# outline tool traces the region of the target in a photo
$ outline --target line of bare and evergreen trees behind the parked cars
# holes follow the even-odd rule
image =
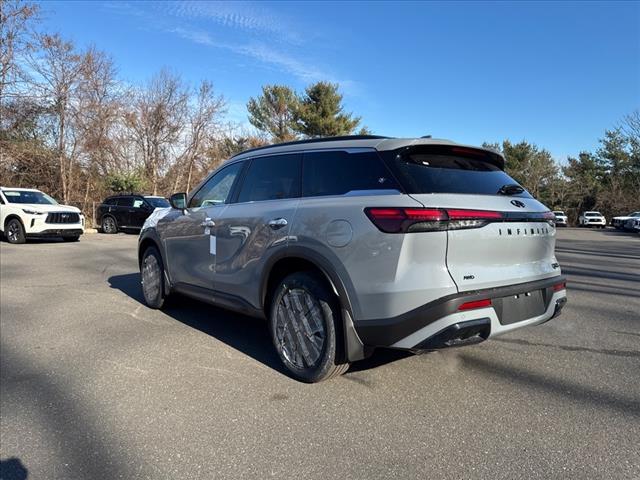
[[[247,148],[301,138],[370,134],[345,111],[339,85],[303,92],[266,85],[247,103],[252,129],[226,119],[211,81],[193,85],[160,70],[146,82],[118,77],[113,59],[38,30],[38,6],[0,0],[0,180],[40,188],[91,214],[122,191],[188,191]],[[485,144],[507,171],[551,208],[571,216],[640,210],[640,113],[606,130],[595,152],[555,161],[527,141]],[[572,215],[573,214],[573,215]]]

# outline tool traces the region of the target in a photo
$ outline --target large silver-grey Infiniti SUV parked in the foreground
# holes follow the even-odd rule
[[[181,293],[268,319],[282,364],[307,382],[377,347],[473,345],[538,325],[566,302],[553,213],[484,148],[283,143],[236,155],[171,204],[140,233],[147,305]]]

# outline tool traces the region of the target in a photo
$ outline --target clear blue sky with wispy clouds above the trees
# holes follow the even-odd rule
[[[338,82],[374,133],[526,139],[559,160],[640,107],[639,2],[43,2],[43,28],[122,79],[211,80],[228,117],[267,83]]]

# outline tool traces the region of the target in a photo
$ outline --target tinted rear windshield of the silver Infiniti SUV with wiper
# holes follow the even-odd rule
[[[385,152],[384,156],[407,193],[496,195],[506,186],[518,186],[499,167],[501,158],[484,150],[418,145]],[[509,193],[531,198],[524,189]]]

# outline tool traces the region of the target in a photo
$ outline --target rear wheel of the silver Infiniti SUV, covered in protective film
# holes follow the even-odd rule
[[[338,299],[314,272],[293,273],[276,288],[269,331],[280,361],[298,380],[316,383],[349,368],[349,363],[338,363],[342,358]]]

